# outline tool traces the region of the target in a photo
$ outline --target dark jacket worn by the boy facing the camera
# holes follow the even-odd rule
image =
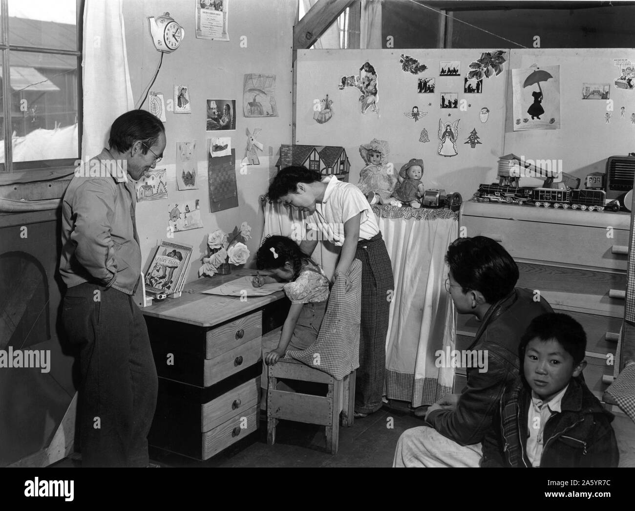
[[[483,440],[481,467],[531,467],[527,415],[531,388],[519,377],[500,401],[495,423]],[[620,454],[606,411],[584,380],[572,378],[561,412],[545,423],[540,467],[617,467]]]

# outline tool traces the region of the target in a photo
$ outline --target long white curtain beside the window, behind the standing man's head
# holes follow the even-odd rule
[[[135,107],[122,0],[86,0],[83,56],[82,158],[86,159],[107,147],[112,121]]]

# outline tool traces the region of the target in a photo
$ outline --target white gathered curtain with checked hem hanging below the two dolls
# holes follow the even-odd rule
[[[436,351],[455,346],[454,304],[445,291],[448,245],[456,218],[379,218],[395,292],[386,340],[385,394],[412,406],[452,392],[455,370],[438,368]]]

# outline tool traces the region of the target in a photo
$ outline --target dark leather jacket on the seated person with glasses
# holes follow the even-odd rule
[[[516,288],[492,305],[483,317],[469,350],[486,350],[488,370],[467,368],[467,387],[457,406],[432,411],[427,421],[462,446],[478,444],[492,426],[505,386],[518,376],[518,345],[531,320],[553,312],[547,300],[533,300],[530,289]]]

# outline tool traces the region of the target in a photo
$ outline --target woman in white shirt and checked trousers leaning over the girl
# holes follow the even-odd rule
[[[335,176],[321,180],[305,167],[279,171],[269,185],[269,199],[281,200],[309,213],[307,236],[300,243],[312,254],[319,239],[340,246],[336,272],[347,274],[354,258],[362,263],[359,369],[355,391],[355,416],[363,417],[382,408],[385,343],[388,333],[390,296],[394,289],[392,265],[379,231],[375,213],[364,194],[352,183]],[[351,288],[349,277],[344,277]]]

